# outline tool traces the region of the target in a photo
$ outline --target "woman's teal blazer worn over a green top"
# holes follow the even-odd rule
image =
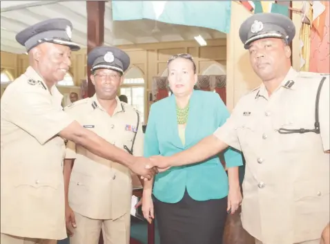
[[[229,111],[217,93],[193,91],[189,101],[185,145],[177,130],[175,97],[171,95],[151,106],[146,133],[144,156],[171,156],[200,142],[222,126],[229,118]],[[226,167],[242,165],[240,152],[229,148],[224,152]],[[153,194],[164,203],[177,203],[187,189],[195,200],[220,199],[228,195],[226,171],[218,156],[193,165],[172,167],[155,176]]]

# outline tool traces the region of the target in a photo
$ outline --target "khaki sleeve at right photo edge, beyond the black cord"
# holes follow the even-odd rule
[[[324,151],[330,150],[330,99],[329,99],[329,75],[327,79],[324,80],[322,90],[320,93],[320,103],[319,103],[319,119],[320,119],[320,135],[322,139]]]

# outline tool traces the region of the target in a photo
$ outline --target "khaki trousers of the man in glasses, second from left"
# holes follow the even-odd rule
[[[129,244],[130,213],[115,220],[87,218],[75,212],[77,227],[70,236],[70,244],[98,244],[102,230],[104,244]]]

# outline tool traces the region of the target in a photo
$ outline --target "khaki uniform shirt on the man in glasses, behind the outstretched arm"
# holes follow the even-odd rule
[[[70,104],[65,111],[86,129],[97,133],[123,150],[131,149],[137,129],[137,111],[120,102],[113,116],[99,104],[96,95]],[[141,122],[142,118],[139,118]],[[133,154],[143,156],[142,124],[139,123]],[[75,158],[68,200],[73,211],[94,219],[116,219],[130,211],[132,180],[130,170],[68,142],[66,158]]]

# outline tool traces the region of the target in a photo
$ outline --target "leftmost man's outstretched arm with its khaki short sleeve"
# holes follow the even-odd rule
[[[153,169],[145,169],[146,158],[136,158],[130,153],[115,147],[93,131],[89,131],[59,108],[55,108],[49,95],[38,88],[19,90],[12,94],[12,100],[5,104],[6,117],[27,133],[34,136],[40,144],[59,135],[61,138],[80,144],[88,151],[125,165],[140,176],[151,179]],[[11,102],[12,101],[12,102]],[[16,111],[21,111],[17,113]]]

